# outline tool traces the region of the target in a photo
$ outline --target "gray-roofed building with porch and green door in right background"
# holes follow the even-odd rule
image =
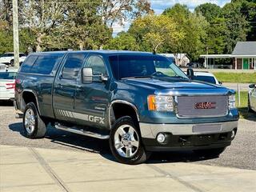
[[[216,68],[214,59],[230,58],[234,70],[256,70],[256,42],[237,42],[232,54],[202,54],[200,58],[205,58],[206,68]]]

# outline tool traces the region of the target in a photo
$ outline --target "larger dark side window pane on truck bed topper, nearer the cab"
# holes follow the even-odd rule
[[[58,57],[38,56],[30,70],[30,73],[50,74],[56,62],[58,62]]]

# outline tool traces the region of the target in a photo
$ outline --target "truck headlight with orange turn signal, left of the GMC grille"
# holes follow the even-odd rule
[[[173,111],[173,97],[163,95],[149,95],[147,98],[149,110]]]

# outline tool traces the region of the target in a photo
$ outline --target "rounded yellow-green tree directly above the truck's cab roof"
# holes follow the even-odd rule
[[[121,32],[117,37],[112,38],[104,47],[108,50],[140,50],[136,38],[132,34]]]

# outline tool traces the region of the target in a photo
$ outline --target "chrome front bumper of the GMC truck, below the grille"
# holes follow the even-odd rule
[[[173,135],[226,133],[238,128],[238,121],[198,124],[151,124],[140,122],[139,126],[142,138],[156,138],[158,133]]]

